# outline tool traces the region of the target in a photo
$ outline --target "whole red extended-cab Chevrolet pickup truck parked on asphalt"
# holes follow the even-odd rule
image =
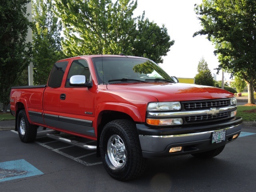
[[[178,83],[152,60],[134,56],[60,60],[47,85],[12,87],[10,104],[22,142],[34,141],[39,126],[50,128],[51,138],[96,150],[118,180],[140,176],[147,158],[212,158],[242,128],[234,94]],[[64,139],[60,132],[97,145]]]

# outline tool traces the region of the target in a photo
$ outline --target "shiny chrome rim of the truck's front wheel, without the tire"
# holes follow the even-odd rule
[[[108,158],[116,168],[121,168],[126,162],[124,142],[118,135],[112,135],[108,139]]]

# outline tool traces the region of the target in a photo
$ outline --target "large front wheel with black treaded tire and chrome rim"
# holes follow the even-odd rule
[[[108,174],[121,181],[140,176],[146,168],[134,122],[114,120],[100,135],[100,154]]]

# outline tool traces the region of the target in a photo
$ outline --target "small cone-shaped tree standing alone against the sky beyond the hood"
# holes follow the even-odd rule
[[[215,85],[212,73],[208,68],[207,62],[204,60],[204,57],[202,57],[198,62],[197,71],[198,74],[195,76],[195,84],[212,87]]]

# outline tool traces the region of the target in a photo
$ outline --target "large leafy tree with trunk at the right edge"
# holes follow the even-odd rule
[[[256,74],[256,2],[253,0],[203,0],[196,5],[202,30],[196,35],[207,35],[224,69],[231,76],[241,73],[248,82],[248,103],[254,104],[253,83]]]

